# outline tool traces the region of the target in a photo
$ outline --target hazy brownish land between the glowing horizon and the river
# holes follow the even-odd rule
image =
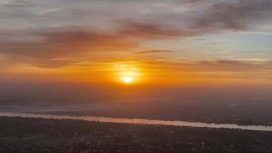
[[[0,111],[271,125],[272,89],[244,87],[8,83]]]

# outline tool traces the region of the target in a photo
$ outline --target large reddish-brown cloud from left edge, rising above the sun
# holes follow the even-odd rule
[[[35,33],[27,42],[0,42],[0,52],[29,57],[54,58],[74,56],[82,52],[124,51],[138,48],[142,41],[197,35],[198,31],[172,29],[149,23],[123,22],[114,32],[93,29],[52,30]],[[40,41],[36,41],[40,40]]]

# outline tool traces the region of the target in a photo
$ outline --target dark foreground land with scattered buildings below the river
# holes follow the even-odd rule
[[[272,132],[0,117],[0,152],[272,152]]]

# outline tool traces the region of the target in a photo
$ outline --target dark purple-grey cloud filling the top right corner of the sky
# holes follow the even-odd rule
[[[269,0],[217,2],[193,21],[193,27],[246,30],[253,21],[267,22],[271,13],[272,1]]]

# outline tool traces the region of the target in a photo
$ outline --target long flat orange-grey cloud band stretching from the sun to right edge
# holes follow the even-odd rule
[[[272,60],[180,61],[176,59],[147,59],[145,63],[149,68],[159,68],[159,70],[170,70],[172,72],[272,72]]]

